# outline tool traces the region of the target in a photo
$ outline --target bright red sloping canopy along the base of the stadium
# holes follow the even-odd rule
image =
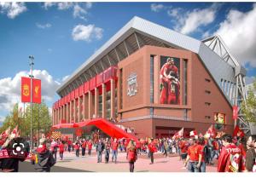
[[[97,128],[101,129],[107,135],[121,139],[121,138],[129,138],[134,141],[137,141],[137,137],[131,134],[128,134],[123,129],[120,129],[115,124],[108,122],[104,118],[93,118],[90,120],[86,120],[80,123],[60,123],[54,125],[53,128],[61,129],[61,128],[80,128],[84,126],[95,125]]]

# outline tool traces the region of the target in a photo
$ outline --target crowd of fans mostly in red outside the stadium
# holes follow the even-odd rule
[[[98,138],[84,139],[46,139],[44,135],[39,140],[39,146],[32,153],[32,164],[35,170],[49,172],[56,163],[57,153],[62,160],[65,152],[75,152],[76,157],[91,156],[96,151],[96,162],[108,164],[111,160],[118,163],[118,152],[126,152],[126,160],[131,172],[139,155],[148,155],[148,164],[154,164],[154,153],[168,158],[176,154],[183,165],[190,172],[206,172],[207,165],[217,165],[218,172],[255,172],[256,171],[256,135],[235,137],[223,135],[220,138],[210,136],[190,136],[189,138],[161,138],[161,139],[117,139]],[[103,158],[102,158],[103,157]],[[111,159],[110,159],[111,158]],[[24,161],[24,160],[22,160]],[[5,169],[3,159],[0,159],[1,169]],[[14,170],[14,169],[12,169]],[[18,171],[18,169],[15,169]]]

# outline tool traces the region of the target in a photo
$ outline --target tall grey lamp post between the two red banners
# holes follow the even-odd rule
[[[29,75],[30,77],[30,86],[31,86],[31,89],[30,89],[30,107],[31,107],[31,113],[30,113],[30,152],[32,152],[32,148],[33,148],[33,143],[32,143],[32,78],[33,78],[33,74],[32,74],[32,70],[33,70],[33,60],[34,60],[34,56],[30,55],[28,57],[30,59],[30,70],[31,70],[31,74]]]

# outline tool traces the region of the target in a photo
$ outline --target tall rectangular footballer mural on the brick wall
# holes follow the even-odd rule
[[[180,60],[160,57],[160,104],[180,104]]]

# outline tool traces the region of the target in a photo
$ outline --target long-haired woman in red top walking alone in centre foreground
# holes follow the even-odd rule
[[[130,172],[134,171],[134,163],[137,160],[137,148],[135,146],[134,141],[130,141],[128,146],[126,147],[126,159],[129,162],[129,170]]]

